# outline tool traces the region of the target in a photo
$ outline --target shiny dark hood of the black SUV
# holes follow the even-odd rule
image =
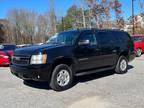
[[[43,44],[43,45],[32,45],[28,47],[18,48],[14,51],[14,55],[26,55],[30,56],[32,54],[37,54],[41,52],[43,49],[48,50],[51,48],[61,47],[64,45],[59,44]]]

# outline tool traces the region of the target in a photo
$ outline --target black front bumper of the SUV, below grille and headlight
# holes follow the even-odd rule
[[[51,65],[10,66],[11,73],[23,80],[50,81]]]

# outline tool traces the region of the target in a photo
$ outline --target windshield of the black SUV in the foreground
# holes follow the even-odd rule
[[[71,31],[71,32],[62,32],[52,36],[47,44],[64,44],[64,45],[72,45],[74,44],[79,32]]]

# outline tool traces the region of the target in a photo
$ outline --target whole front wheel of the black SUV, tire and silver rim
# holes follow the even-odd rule
[[[50,87],[55,91],[64,91],[72,86],[73,74],[69,66],[60,64],[52,73]]]

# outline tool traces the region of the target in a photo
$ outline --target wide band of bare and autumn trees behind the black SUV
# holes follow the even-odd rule
[[[73,0],[65,16],[56,15],[54,0],[49,0],[48,11],[38,14],[32,10],[11,9],[7,13],[7,24],[0,27],[0,42],[27,44],[45,42],[56,32],[77,28],[124,29],[119,0]],[[141,13],[143,1],[139,0]],[[131,31],[130,31],[131,32]]]

